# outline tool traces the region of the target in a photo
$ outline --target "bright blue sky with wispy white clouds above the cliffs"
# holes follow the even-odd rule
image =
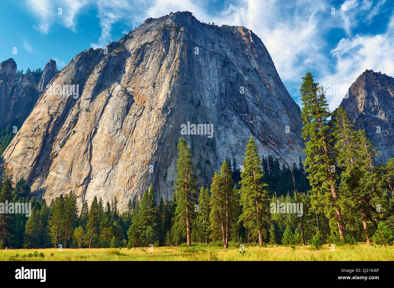
[[[394,76],[394,0],[2,0],[0,60],[14,58],[26,71],[55,59],[61,69],[149,17],[185,10],[256,33],[299,105],[307,71],[327,89],[331,109],[365,69]]]

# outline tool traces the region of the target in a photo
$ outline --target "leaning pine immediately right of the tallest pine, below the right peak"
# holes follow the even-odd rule
[[[367,222],[379,222],[379,213],[373,203],[388,204],[382,174],[376,171],[373,158],[376,148],[368,140],[364,130],[356,131],[349,115],[342,107],[334,113],[333,134],[336,137],[335,154],[341,170],[339,186],[346,201],[343,206],[346,223],[362,220],[366,242],[370,243],[370,229]]]

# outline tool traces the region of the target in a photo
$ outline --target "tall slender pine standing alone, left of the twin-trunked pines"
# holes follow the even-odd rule
[[[191,149],[187,147],[186,140],[180,138],[178,143],[177,181],[175,182],[175,193],[177,197],[177,208],[175,221],[178,231],[186,234],[188,246],[191,246],[191,221],[195,204],[195,188],[197,186],[194,167],[191,162]]]

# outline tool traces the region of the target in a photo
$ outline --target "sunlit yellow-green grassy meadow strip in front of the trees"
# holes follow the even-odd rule
[[[9,249],[0,250],[1,261],[337,261],[394,260],[394,247],[375,247],[365,243],[336,247],[329,245],[314,251],[310,246],[291,247],[248,247],[245,253],[238,247],[148,247],[132,249]],[[37,253],[35,253],[37,251]],[[30,254],[31,253],[31,254]],[[43,253],[44,257],[36,256]],[[30,257],[27,255],[30,254]],[[52,254],[52,255],[51,255]],[[17,255],[17,256],[16,256]],[[23,256],[26,255],[26,256]]]

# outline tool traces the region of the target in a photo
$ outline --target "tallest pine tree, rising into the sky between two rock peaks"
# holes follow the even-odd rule
[[[307,142],[304,153],[307,156],[305,165],[308,167],[308,178],[314,193],[314,205],[322,204],[325,214],[338,225],[338,232],[345,238],[342,213],[338,204],[339,196],[335,171],[336,160],[333,152],[334,139],[330,136],[329,117],[331,116],[325,100],[324,92],[318,83],[313,81],[309,72],[303,77],[300,89],[303,108],[302,137]]]

